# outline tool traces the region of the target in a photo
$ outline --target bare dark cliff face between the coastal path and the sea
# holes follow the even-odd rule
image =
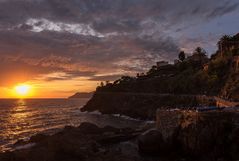
[[[186,108],[209,104],[214,105],[215,102],[199,96],[97,92],[82,108],[82,111],[98,110],[103,114],[122,114],[133,118],[155,119],[158,108]]]

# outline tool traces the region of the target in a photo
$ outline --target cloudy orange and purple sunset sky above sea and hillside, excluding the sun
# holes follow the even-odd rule
[[[211,55],[238,19],[238,0],[0,0],[0,98],[22,83],[68,97],[180,50]]]

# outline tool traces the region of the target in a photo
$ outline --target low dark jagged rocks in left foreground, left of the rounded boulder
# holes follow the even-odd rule
[[[0,161],[138,161],[137,144],[131,142],[128,144],[133,145],[127,146],[127,142],[139,134],[128,128],[99,128],[82,123],[78,128],[68,126],[52,136],[39,134],[28,142],[19,142],[16,146],[23,148],[0,154]],[[25,149],[24,144],[31,147]],[[130,149],[134,151],[132,155],[127,153]]]

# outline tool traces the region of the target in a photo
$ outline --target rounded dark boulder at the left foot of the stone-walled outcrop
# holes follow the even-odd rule
[[[138,138],[139,152],[146,155],[160,155],[165,151],[165,142],[160,131],[151,129]]]

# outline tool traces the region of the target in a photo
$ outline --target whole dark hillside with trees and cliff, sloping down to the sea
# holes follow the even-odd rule
[[[152,119],[157,108],[215,106],[210,96],[239,101],[239,45],[231,43],[238,41],[239,34],[224,36],[211,58],[198,47],[187,58],[180,52],[174,64],[158,62],[146,73],[101,83],[82,110]]]

